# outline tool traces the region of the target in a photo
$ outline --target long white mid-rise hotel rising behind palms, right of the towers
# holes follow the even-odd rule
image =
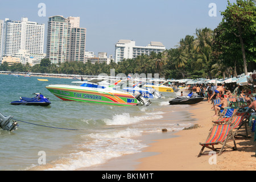
[[[150,55],[152,51],[163,52],[165,49],[166,47],[160,42],[150,42],[147,46],[135,46],[133,40],[119,40],[115,44],[115,63],[123,59],[133,59],[142,54]]]

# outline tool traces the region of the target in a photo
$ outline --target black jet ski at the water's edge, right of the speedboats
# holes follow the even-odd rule
[[[197,104],[204,100],[203,95],[198,95],[196,93],[190,92],[188,96],[177,96],[174,99],[170,100],[170,105],[177,104]]]

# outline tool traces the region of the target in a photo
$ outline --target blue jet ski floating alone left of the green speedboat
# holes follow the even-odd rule
[[[32,98],[28,97],[20,97],[20,100],[10,102],[12,105],[36,105],[36,106],[48,106],[51,104],[51,102],[48,100],[48,98],[44,97],[40,93],[33,93],[36,96]]]

